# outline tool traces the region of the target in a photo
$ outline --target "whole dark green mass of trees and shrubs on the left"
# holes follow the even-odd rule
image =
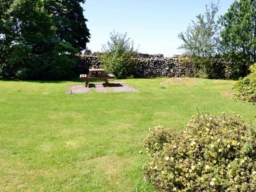
[[[89,37],[79,2],[83,1],[1,2],[0,76],[41,80],[72,77],[74,54],[84,48]],[[87,38],[78,40],[80,33]]]

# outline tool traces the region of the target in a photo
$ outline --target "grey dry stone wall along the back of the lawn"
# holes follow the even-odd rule
[[[77,74],[88,74],[90,68],[100,68],[102,53],[77,56]],[[200,68],[188,63],[186,56],[164,57],[162,54],[138,53],[132,58],[136,63],[139,77],[199,77]],[[232,63],[219,56],[212,58],[212,68],[208,78],[234,78]],[[238,76],[239,77],[239,76]]]

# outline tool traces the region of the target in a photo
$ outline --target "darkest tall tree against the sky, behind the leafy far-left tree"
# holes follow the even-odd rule
[[[81,3],[85,0],[44,0],[44,7],[53,15],[56,34],[79,51],[86,49],[90,33],[86,26]]]

